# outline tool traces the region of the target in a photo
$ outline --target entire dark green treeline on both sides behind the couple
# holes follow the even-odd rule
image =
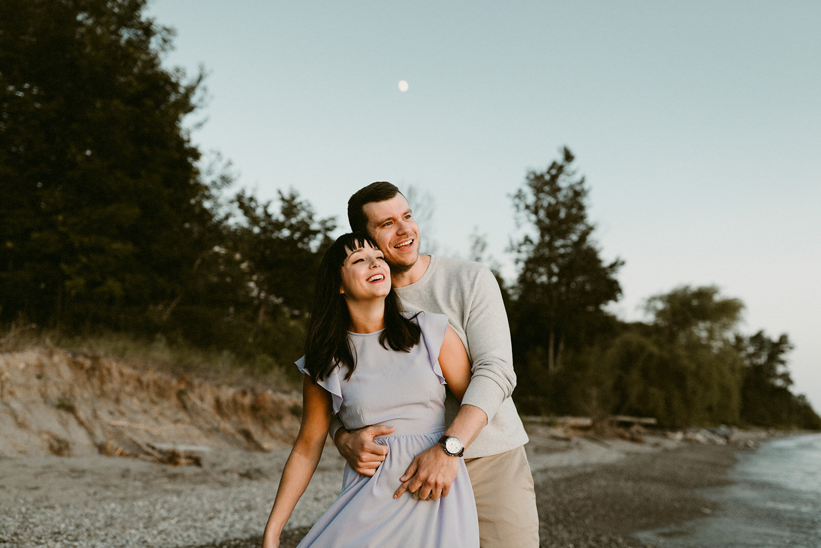
[[[183,121],[203,77],[162,66],[172,32],[144,3],[0,3],[0,320],[287,364],[336,221],[200,168]],[[742,303],[717,288],[651,297],[646,323],[606,311],[623,262],[602,260],[573,162],[562,150],[513,196],[520,274],[500,282],[521,410],[821,429],[790,391],[787,335],[738,334]]]

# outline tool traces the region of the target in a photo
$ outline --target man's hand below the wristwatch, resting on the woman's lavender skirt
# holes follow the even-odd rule
[[[402,485],[393,494],[398,499],[405,491],[410,491],[417,500],[439,500],[451,491],[451,484],[459,472],[459,458],[445,454],[439,444],[416,455],[413,462],[400,477]]]

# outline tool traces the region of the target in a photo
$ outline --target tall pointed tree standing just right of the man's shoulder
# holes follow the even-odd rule
[[[561,368],[566,345],[592,335],[606,315],[603,306],[621,295],[616,274],[623,261],[605,263],[599,256],[585,177],[576,175],[573,160],[564,148],[561,159],[543,173],[528,173],[512,196],[518,225],[529,228],[511,244],[521,267],[511,318],[514,348],[520,361],[548,375]]]

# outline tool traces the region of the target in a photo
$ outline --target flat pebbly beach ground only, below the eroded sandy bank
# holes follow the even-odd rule
[[[528,431],[541,546],[651,546],[631,532],[712,512],[694,489],[726,483],[736,461],[733,445],[665,435],[636,443]],[[0,545],[259,546],[288,450],[213,450],[201,467],[101,455],[2,458]],[[283,548],[296,546],[336,497],[342,466],[328,446]]]

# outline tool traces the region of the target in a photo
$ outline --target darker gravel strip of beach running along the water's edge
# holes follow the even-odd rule
[[[589,446],[577,448],[585,453]],[[634,448],[635,449],[635,448]],[[534,472],[540,548],[648,548],[633,533],[699,518],[716,504],[695,490],[731,483],[733,445],[684,444],[629,451],[612,463],[545,467]],[[616,450],[618,452],[618,449]],[[310,527],[289,529],[280,548],[294,548]],[[258,548],[262,536],[186,548]]]

